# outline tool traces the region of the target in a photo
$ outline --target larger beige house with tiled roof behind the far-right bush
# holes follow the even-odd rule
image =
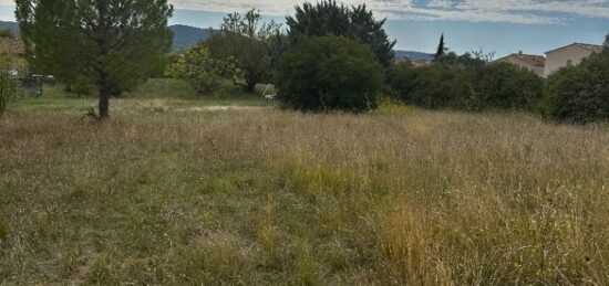
[[[593,53],[602,51],[602,45],[572,43],[546,52],[546,68],[544,76],[550,76],[565,66],[578,65]]]

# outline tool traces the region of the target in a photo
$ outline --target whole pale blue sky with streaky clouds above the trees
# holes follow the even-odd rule
[[[317,0],[311,0],[316,2]],[[169,0],[172,24],[217,27],[224,14],[258,8],[266,20],[285,21],[300,0]],[[434,52],[440,35],[458,53],[483,50],[496,57],[523,51],[543,54],[574,42],[602,43],[609,33],[609,0],[342,0],[365,4],[398,41],[396,49]],[[0,19],[14,20],[11,0]]]

